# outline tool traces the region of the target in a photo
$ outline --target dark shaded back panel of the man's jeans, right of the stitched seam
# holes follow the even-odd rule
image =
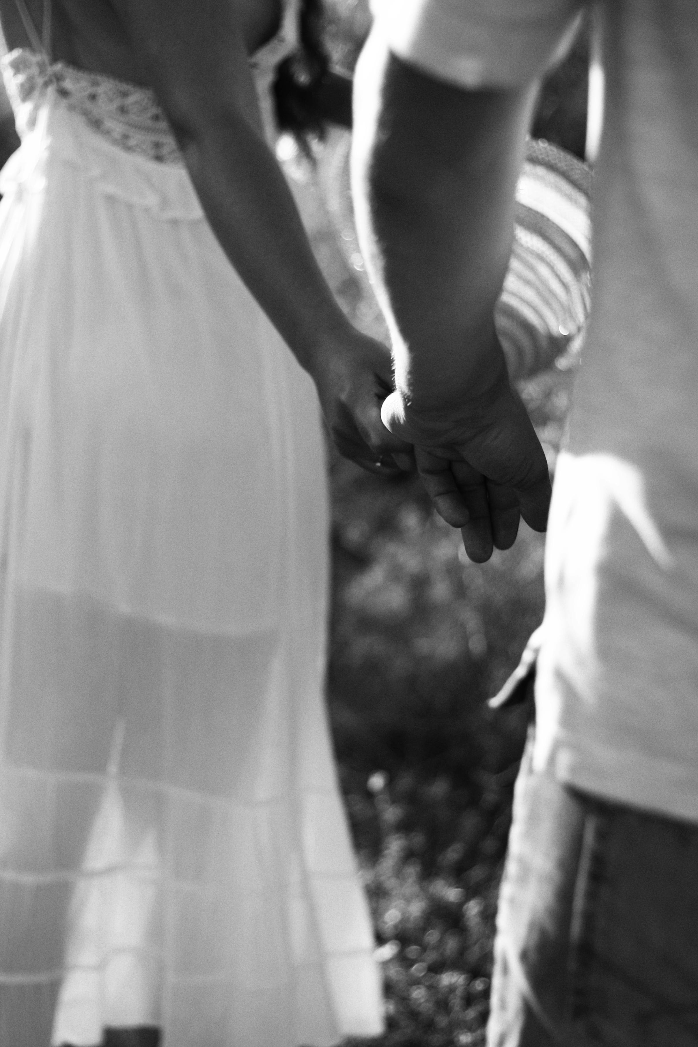
[[[698,827],[591,801],[570,927],[584,1042],[698,1045]]]

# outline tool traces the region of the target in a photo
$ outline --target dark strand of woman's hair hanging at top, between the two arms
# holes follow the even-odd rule
[[[323,43],[322,0],[301,0],[299,47],[278,67],[274,82],[276,120],[282,131],[293,134],[305,151],[308,136],[322,137],[320,91],[330,71]]]

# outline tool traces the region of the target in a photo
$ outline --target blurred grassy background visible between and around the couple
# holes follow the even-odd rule
[[[325,4],[333,59],[351,71],[366,4]],[[578,155],[586,69],[582,35],[545,84],[533,129]],[[371,304],[354,293],[352,311],[378,332]],[[520,384],[551,466],[572,377],[553,367]],[[541,620],[543,537],[522,525],[514,549],[475,565],[418,482],[379,480],[336,455],[331,476],[330,712],[386,992],[387,1033],[371,1044],[475,1047],[485,1042],[496,895],[527,719],[525,709],[495,714],[483,703]]]

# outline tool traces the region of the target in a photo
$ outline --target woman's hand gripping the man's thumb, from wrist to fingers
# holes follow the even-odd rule
[[[318,353],[309,369],[330,435],[340,454],[383,475],[414,468],[412,446],[381,421],[392,391],[390,353],[379,341],[351,331]]]

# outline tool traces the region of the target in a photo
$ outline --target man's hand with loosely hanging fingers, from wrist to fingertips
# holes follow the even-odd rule
[[[547,462],[502,366],[474,397],[444,395],[435,407],[391,393],[382,418],[415,445],[416,468],[434,507],[460,528],[471,560],[514,544],[519,517],[544,531],[550,502]]]

